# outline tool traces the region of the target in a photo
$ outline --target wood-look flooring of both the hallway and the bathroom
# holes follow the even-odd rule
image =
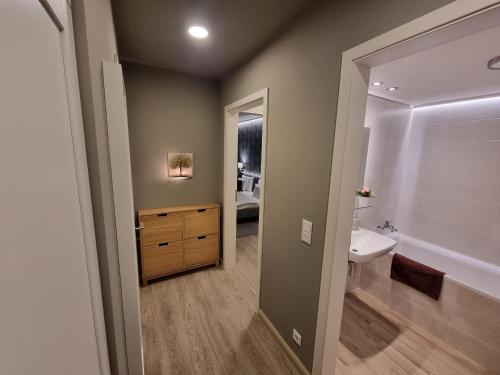
[[[141,288],[146,375],[299,375],[256,314],[257,236],[237,240],[237,266]],[[337,375],[487,372],[363,292],[346,296]]]

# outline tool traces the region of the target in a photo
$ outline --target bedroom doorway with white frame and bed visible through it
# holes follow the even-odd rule
[[[240,267],[260,300],[268,89],[225,107],[223,265]]]

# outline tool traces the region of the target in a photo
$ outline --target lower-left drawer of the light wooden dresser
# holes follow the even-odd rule
[[[180,270],[184,267],[184,250],[181,242],[147,246],[142,249],[144,277]]]

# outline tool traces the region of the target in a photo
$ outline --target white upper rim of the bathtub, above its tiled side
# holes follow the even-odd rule
[[[393,252],[445,272],[445,278],[500,301],[500,267],[402,233]]]

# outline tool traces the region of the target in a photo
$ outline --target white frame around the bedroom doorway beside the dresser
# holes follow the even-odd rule
[[[236,190],[238,163],[238,113],[262,105],[262,151],[260,167],[259,233],[257,243],[257,307],[260,305],[260,276],[264,208],[266,194],[267,120],[269,88],[264,88],[224,107],[224,195],[223,195],[223,265],[236,265]]]

